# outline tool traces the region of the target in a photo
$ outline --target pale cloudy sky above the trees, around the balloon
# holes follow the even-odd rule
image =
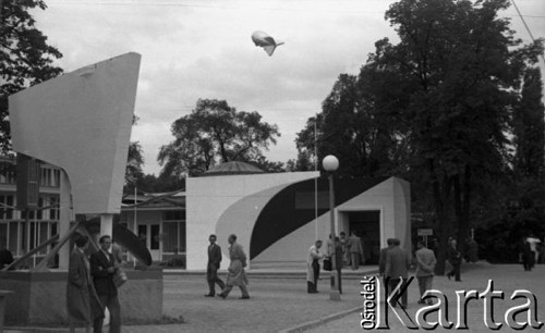
[[[340,73],[356,74],[374,42],[396,41],[384,21],[390,0],[46,0],[37,26],[63,58],[66,72],[125,52],[142,54],[132,140],[144,148],[146,173],[172,139],[170,124],[198,98],[226,99],[238,110],[258,111],[281,137],[266,156],[286,162],[308,116]],[[517,0],[535,38],[545,35],[545,1]],[[514,9],[520,38],[530,41]],[[283,40],[272,57],[251,35],[264,30]]]

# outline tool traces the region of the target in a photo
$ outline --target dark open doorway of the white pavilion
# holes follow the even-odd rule
[[[365,210],[348,212],[350,231],[362,238],[365,264],[378,264],[380,255],[380,211]]]

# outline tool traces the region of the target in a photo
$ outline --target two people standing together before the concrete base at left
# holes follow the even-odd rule
[[[113,276],[118,272],[119,258],[111,252],[111,237],[101,236],[99,250],[87,258],[85,250],[89,245],[86,236],[77,235],[75,248],[70,255],[70,267],[66,289],[66,307],[70,331],[84,325],[86,332],[90,326],[95,333],[101,332],[105,308],[110,312],[110,332],[121,332],[121,306],[118,299],[118,287]]]

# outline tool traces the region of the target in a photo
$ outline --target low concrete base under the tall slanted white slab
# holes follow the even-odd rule
[[[129,281],[119,288],[121,320],[154,322],[162,317],[162,271],[126,271]],[[66,325],[64,271],[0,272],[7,296],[5,323],[10,325]]]

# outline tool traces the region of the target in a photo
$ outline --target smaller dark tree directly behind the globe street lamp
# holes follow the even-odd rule
[[[316,157],[316,145],[318,161],[330,153],[339,159],[340,174],[383,176],[407,169],[405,139],[389,115],[375,107],[366,90],[367,77],[364,70],[359,76],[339,75],[323,102],[323,112],[310,118],[298,133],[300,161]]]

